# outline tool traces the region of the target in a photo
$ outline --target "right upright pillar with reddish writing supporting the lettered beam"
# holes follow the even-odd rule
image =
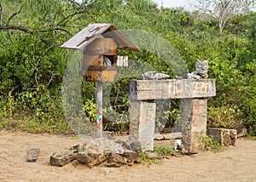
[[[198,137],[207,134],[207,100],[183,100],[183,145],[188,151],[201,149]]]

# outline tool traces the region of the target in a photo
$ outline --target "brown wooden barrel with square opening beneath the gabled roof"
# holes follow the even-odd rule
[[[84,48],[86,81],[113,82],[117,74],[117,46],[113,38],[96,38]]]

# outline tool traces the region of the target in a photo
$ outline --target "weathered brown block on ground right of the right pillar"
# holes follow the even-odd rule
[[[236,129],[208,128],[207,130],[209,137],[226,146],[236,144],[236,134]]]

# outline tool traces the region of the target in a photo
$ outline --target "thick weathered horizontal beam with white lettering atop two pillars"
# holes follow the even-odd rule
[[[202,98],[216,95],[214,79],[132,80],[131,100]]]

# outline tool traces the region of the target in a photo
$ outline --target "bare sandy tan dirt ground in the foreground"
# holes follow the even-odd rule
[[[69,151],[79,143],[64,136],[2,130],[0,181],[256,181],[256,141],[250,139],[238,139],[236,146],[222,152],[172,156],[149,167],[88,168],[75,161],[64,167],[49,164],[55,151]],[[38,160],[26,162],[32,147],[40,149]]]

